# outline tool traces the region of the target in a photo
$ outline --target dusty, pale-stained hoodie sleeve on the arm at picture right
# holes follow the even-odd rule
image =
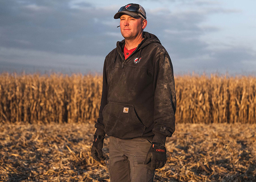
[[[175,130],[176,111],[173,66],[166,51],[158,52],[152,75],[155,123],[153,142],[165,144],[166,137],[171,137]]]

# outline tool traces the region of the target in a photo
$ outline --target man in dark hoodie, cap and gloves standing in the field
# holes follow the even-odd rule
[[[104,160],[103,139],[109,137],[111,182],[153,182],[154,171],[166,163],[166,137],[174,130],[176,93],[170,57],[158,38],[143,32],[146,12],[127,4],[120,18],[124,40],[105,59],[99,118],[91,149]],[[118,26],[119,27],[119,26]]]

